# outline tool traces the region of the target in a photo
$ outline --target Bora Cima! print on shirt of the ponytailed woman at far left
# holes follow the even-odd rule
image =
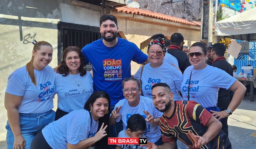
[[[54,90],[55,90],[54,86],[52,88],[49,87],[51,85],[52,83],[50,81],[39,84],[40,90],[42,92],[38,95],[39,99],[37,99],[36,102],[42,102],[42,101],[51,99],[52,94],[54,93]]]

